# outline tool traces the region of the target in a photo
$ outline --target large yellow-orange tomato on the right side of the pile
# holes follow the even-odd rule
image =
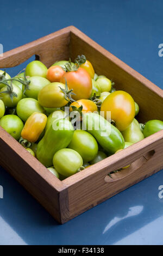
[[[101,105],[101,111],[104,111],[105,118],[107,111],[110,111],[117,129],[124,131],[135,117],[135,102],[128,93],[117,90],[106,97]]]

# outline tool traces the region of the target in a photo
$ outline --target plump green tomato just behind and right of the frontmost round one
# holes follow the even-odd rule
[[[98,153],[96,139],[89,132],[83,130],[74,131],[68,148],[76,150],[82,156],[84,162],[95,159]]]

